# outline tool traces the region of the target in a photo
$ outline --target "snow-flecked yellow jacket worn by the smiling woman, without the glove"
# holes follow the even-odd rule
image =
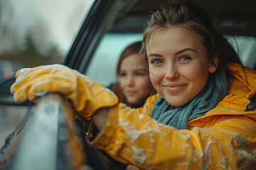
[[[90,142],[114,159],[140,169],[256,169],[256,111],[247,111],[256,95],[256,72],[230,64],[230,91],[206,115],[177,130],[150,118],[151,96],[137,110],[119,103],[105,128]]]

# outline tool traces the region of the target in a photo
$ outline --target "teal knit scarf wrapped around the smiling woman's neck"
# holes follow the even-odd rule
[[[228,81],[224,72],[211,78],[198,96],[184,106],[175,108],[163,97],[158,98],[154,103],[151,118],[179,130],[188,129],[190,120],[205,115],[228,94]]]

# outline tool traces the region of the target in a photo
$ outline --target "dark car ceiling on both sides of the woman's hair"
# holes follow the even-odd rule
[[[142,32],[151,11],[159,9],[162,2],[164,0],[127,1],[110,32]],[[256,36],[255,0],[193,0],[193,3],[208,13],[223,35]]]

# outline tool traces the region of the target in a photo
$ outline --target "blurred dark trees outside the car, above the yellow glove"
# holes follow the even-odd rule
[[[21,61],[28,67],[60,63],[58,45],[50,41],[50,31],[42,18],[37,18],[24,32],[15,23],[14,8],[9,0],[0,0],[0,60]]]

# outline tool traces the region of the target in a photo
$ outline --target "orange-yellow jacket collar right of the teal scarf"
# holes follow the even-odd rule
[[[250,98],[256,95],[256,71],[242,67],[240,64],[229,64],[228,69],[231,73],[231,77],[228,79],[230,85],[228,95],[206,115],[191,120],[190,123],[204,118],[208,120],[214,115],[255,115],[253,118],[256,120],[256,110],[245,112]]]

